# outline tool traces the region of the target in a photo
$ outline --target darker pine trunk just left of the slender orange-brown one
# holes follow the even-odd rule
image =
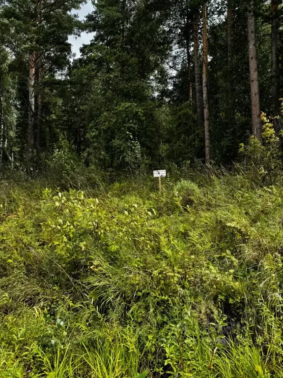
[[[195,80],[196,80],[196,101],[198,113],[198,126],[202,129],[203,119],[203,98],[201,90],[201,74],[199,64],[199,38],[198,38],[198,13],[194,14],[194,60],[195,60]]]

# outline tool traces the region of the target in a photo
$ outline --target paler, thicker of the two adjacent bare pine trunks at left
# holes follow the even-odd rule
[[[35,110],[35,52],[29,56],[28,76],[28,155],[31,156],[34,148],[34,110]]]

